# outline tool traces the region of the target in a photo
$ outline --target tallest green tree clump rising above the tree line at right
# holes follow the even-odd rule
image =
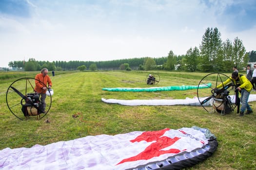
[[[207,28],[203,37],[202,44],[199,46],[201,54],[199,67],[203,71],[210,71],[217,68],[217,55],[221,50],[221,34],[218,29]]]

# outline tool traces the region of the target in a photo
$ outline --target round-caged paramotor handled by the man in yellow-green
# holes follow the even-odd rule
[[[208,112],[214,113],[218,112],[220,115],[226,115],[233,112],[237,106],[237,113],[239,112],[240,99],[238,96],[237,90],[234,90],[234,84],[231,80],[230,84],[223,85],[227,79],[230,79],[228,76],[222,73],[210,73],[204,76],[198,84],[197,87],[197,98],[201,106]],[[212,86],[209,88],[199,88],[200,85],[207,85],[211,83]],[[217,88],[217,85],[221,85],[221,88]],[[231,90],[234,91],[234,98],[231,96]]]

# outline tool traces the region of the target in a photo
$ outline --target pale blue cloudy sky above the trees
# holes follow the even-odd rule
[[[256,0],[0,0],[0,67],[183,55],[208,27],[256,51]]]

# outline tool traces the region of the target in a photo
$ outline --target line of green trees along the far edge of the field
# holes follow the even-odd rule
[[[184,71],[229,71],[232,66],[242,69],[248,62],[256,62],[256,51],[246,52],[238,37],[233,41],[221,40],[217,28],[207,28],[199,47],[190,48],[184,55],[175,55],[171,50],[168,56],[160,58],[141,57],[111,61],[12,61],[9,67],[25,71],[48,70],[184,70]]]

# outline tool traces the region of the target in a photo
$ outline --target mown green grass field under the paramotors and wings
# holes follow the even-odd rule
[[[160,82],[155,86],[198,85],[208,73],[155,71]],[[155,131],[199,126],[217,136],[217,151],[188,170],[256,169],[256,102],[254,114],[238,117],[231,113],[209,114],[200,106],[123,106],[101,102],[105,99],[185,99],[197,96],[197,89],[161,92],[109,92],[104,87],[148,87],[146,71],[59,72],[51,77],[54,89],[52,106],[40,120],[17,119],[6,105],[9,85],[21,77],[34,78],[38,72],[0,73],[0,150],[32,147],[88,135],[116,135],[132,131]],[[7,74],[7,75],[6,75]],[[15,74],[10,76],[8,74]],[[202,90],[202,93],[205,93]],[[252,92],[253,94],[254,92]],[[209,93],[208,93],[209,94]],[[73,118],[72,115],[79,115]],[[46,123],[45,120],[50,120]]]

